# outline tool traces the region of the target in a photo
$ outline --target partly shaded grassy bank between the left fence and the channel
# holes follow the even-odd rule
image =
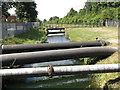
[[[8,44],[32,44],[32,43],[42,43],[47,40],[46,32],[43,26],[35,27],[18,36],[8,37],[2,40],[3,45]]]

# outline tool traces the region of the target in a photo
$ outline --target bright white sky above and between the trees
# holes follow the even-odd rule
[[[76,11],[82,9],[87,0],[34,0],[37,4],[36,10],[38,11],[38,18],[40,20],[49,20],[52,16],[58,16],[60,18],[67,15],[71,8]],[[9,10],[11,14],[14,14],[13,10]]]

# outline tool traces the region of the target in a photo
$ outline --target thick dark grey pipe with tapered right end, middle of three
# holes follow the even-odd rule
[[[23,65],[39,62],[58,61],[73,58],[85,57],[106,57],[110,56],[116,49],[108,47],[86,47],[63,50],[38,51],[28,53],[15,53],[0,55],[2,66]]]

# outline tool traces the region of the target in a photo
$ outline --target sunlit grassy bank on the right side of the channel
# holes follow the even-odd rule
[[[98,37],[100,40],[111,42],[107,47],[118,49],[118,28],[116,27],[67,28],[66,36],[69,36],[71,41],[94,41]],[[118,55],[120,55],[120,52],[116,52],[110,57],[98,61],[96,64],[120,63]],[[120,80],[115,81],[116,78],[120,78],[120,73],[92,74],[92,77],[90,88],[103,88],[105,85],[108,88],[120,88]],[[114,83],[109,83],[111,80]]]

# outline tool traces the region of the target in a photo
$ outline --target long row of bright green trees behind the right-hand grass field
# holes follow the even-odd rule
[[[79,12],[73,8],[63,18],[51,17],[46,23],[55,24],[94,24],[120,20],[120,2],[87,2]]]

